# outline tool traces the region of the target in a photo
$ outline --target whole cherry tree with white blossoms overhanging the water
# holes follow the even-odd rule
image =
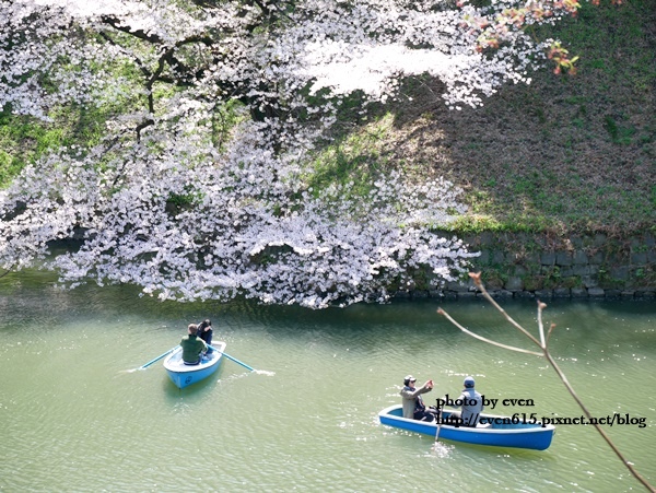
[[[453,108],[530,82],[524,27],[571,1],[0,0],[0,107],[48,120],[103,108],[104,138],[61,148],[0,191],[0,267],[174,300],[311,307],[438,285],[473,255],[436,231],[464,212],[445,180],[312,187],[342,102],[431,74]],[[364,109],[363,109],[364,110]],[[65,254],[54,240],[79,238]]]

